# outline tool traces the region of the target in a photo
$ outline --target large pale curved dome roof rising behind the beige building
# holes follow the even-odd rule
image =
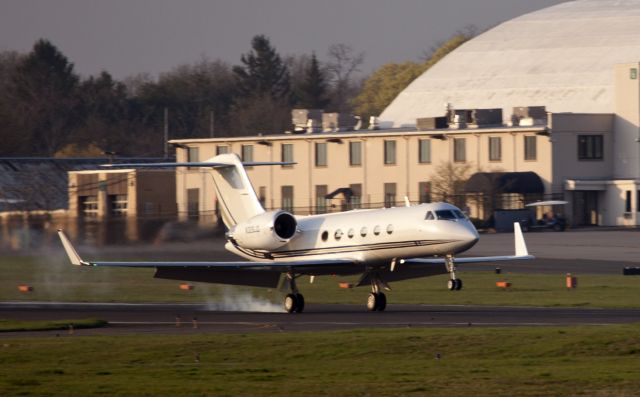
[[[380,115],[384,127],[454,109],[546,106],[612,113],[614,65],[640,61],[640,0],[579,0],[532,12],[469,40]]]

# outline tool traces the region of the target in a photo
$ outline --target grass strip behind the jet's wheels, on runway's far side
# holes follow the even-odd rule
[[[578,288],[565,288],[564,274],[502,274],[461,272],[464,289],[445,289],[446,275],[392,283],[390,303],[640,307],[640,277],[616,275],[576,275]],[[369,288],[340,289],[341,281],[355,277],[299,279],[306,301],[312,303],[362,303]],[[512,283],[509,290],[496,287],[498,280]],[[21,293],[17,286],[33,286]],[[69,265],[65,258],[0,257],[0,301],[87,301],[87,302],[217,302],[226,296],[250,294],[277,303],[277,290],[221,287],[195,284],[192,291],[178,288],[179,281],[153,278],[153,269],[86,268]]]

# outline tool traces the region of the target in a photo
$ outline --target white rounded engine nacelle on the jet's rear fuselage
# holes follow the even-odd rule
[[[241,247],[274,250],[287,244],[296,234],[298,221],[286,211],[269,211],[239,223],[228,236]]]

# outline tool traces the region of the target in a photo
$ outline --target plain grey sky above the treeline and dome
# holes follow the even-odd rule
[[[257,34],[283,56],[364,52],[362,72],[420,60],[456,31],[564,0],[0,0],[0,51],[45,38],[87,77],[158,76],[203,58],[240,64]]]

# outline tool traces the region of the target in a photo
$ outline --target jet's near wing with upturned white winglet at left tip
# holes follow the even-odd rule
[[[72,265],[96,267],[136,267],[155,268],[156,278],[172,280],[201,281],[234,285],[275,288],[280,275],[333,274],[353,266],[360,267],[352,260],[308,260],[296,262],[129,262],[129,261],[86,261],[80,257],[62,230],[58,236]],[[355,270],[354,270],[355,272]]]

